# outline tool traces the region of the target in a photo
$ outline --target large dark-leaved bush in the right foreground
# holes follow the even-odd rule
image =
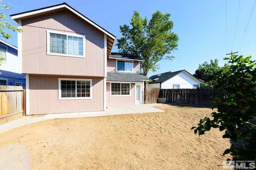
[[[213,108],[218,112],[200,119],[194,133],[203,135],[211,128],[225,130],[223,138],[229,138],[231,146],[224,154],[231,154],[233,160],[256,161],[256,63],[251,56],[231,55],[228,72],[217,78],[216,88],[228,92],[228,97],[212,97]]]

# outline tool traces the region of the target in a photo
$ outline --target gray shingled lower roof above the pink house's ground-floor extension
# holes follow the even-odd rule
[[[149,80],[147,76],[126,72],[107,72],[107,82],[142,82]]]

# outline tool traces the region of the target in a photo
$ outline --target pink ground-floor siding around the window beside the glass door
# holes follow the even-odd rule
[[[134,83],[132,83],[134,84]],[[131,84],[131,86],[132,86]],[[106,106],[128,106],[135,105],[135,92],[134,87],[130,91],[131,96],[110,96],[110,83],[107,83],[107,102]]]

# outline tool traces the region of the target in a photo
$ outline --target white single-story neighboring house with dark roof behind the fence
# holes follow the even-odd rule
[[[152,82],[146,86],[147,90],[152,88],[160,89],[179,89],[179,88],[198,88],[202,82],[186,70],[176,72],[164,72],[150,77]]]

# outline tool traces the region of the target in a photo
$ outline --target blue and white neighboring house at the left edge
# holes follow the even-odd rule
[[[18,57],[18,48],[0,39],[0,85],[26,86],[25,74],[21,74],[21,58]]]

